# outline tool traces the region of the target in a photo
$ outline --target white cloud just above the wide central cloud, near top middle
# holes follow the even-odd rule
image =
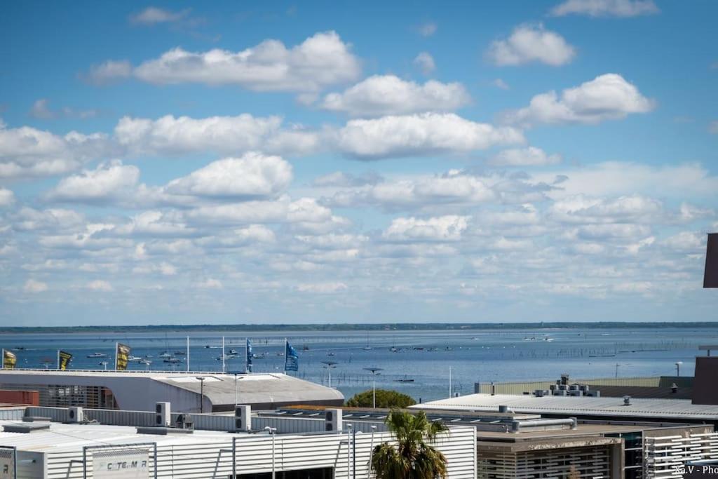
[[[343,93],[330,93],[322,108],[350,116],[383,116],[454,111],[470,103],[471,97],[461,83],[430,80],[419,85],[394,75],[374,75]]]

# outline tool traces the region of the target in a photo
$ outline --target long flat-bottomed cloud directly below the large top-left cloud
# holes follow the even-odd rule
[[[302,129],[282,129],[279,116],[162,116],[157,120],[125,116],[115,139],[131,154],[238,154],[250,150],[305,154],[317,149],[319,137]]]

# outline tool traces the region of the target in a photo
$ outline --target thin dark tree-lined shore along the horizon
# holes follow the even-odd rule
[[[267,324],[267,325],[146,325],[146,326],[14,326],[1,327],[4,333],[42,332],[197,332],[197,331],[460,331],[460,330],[562,330],[562,329],[643,329],[643,328],[718,328],[718,322],[404,322],[404,323],[334,323],[334,324]]]

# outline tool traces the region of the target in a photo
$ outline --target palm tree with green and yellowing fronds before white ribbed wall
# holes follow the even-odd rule
[[[447,459],[427,444],[447,431],[440,422],[429,421],[424,411],[410,414],[394,410],[386,426],[396,437],[396,445],[384,442],[371,455],[376,479],[437,479],[447,477]]]

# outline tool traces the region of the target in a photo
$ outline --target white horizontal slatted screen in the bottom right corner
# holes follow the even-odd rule
[[[645,438],[645,477],[680,479],[686,462],[718,460],[718,432]]]

